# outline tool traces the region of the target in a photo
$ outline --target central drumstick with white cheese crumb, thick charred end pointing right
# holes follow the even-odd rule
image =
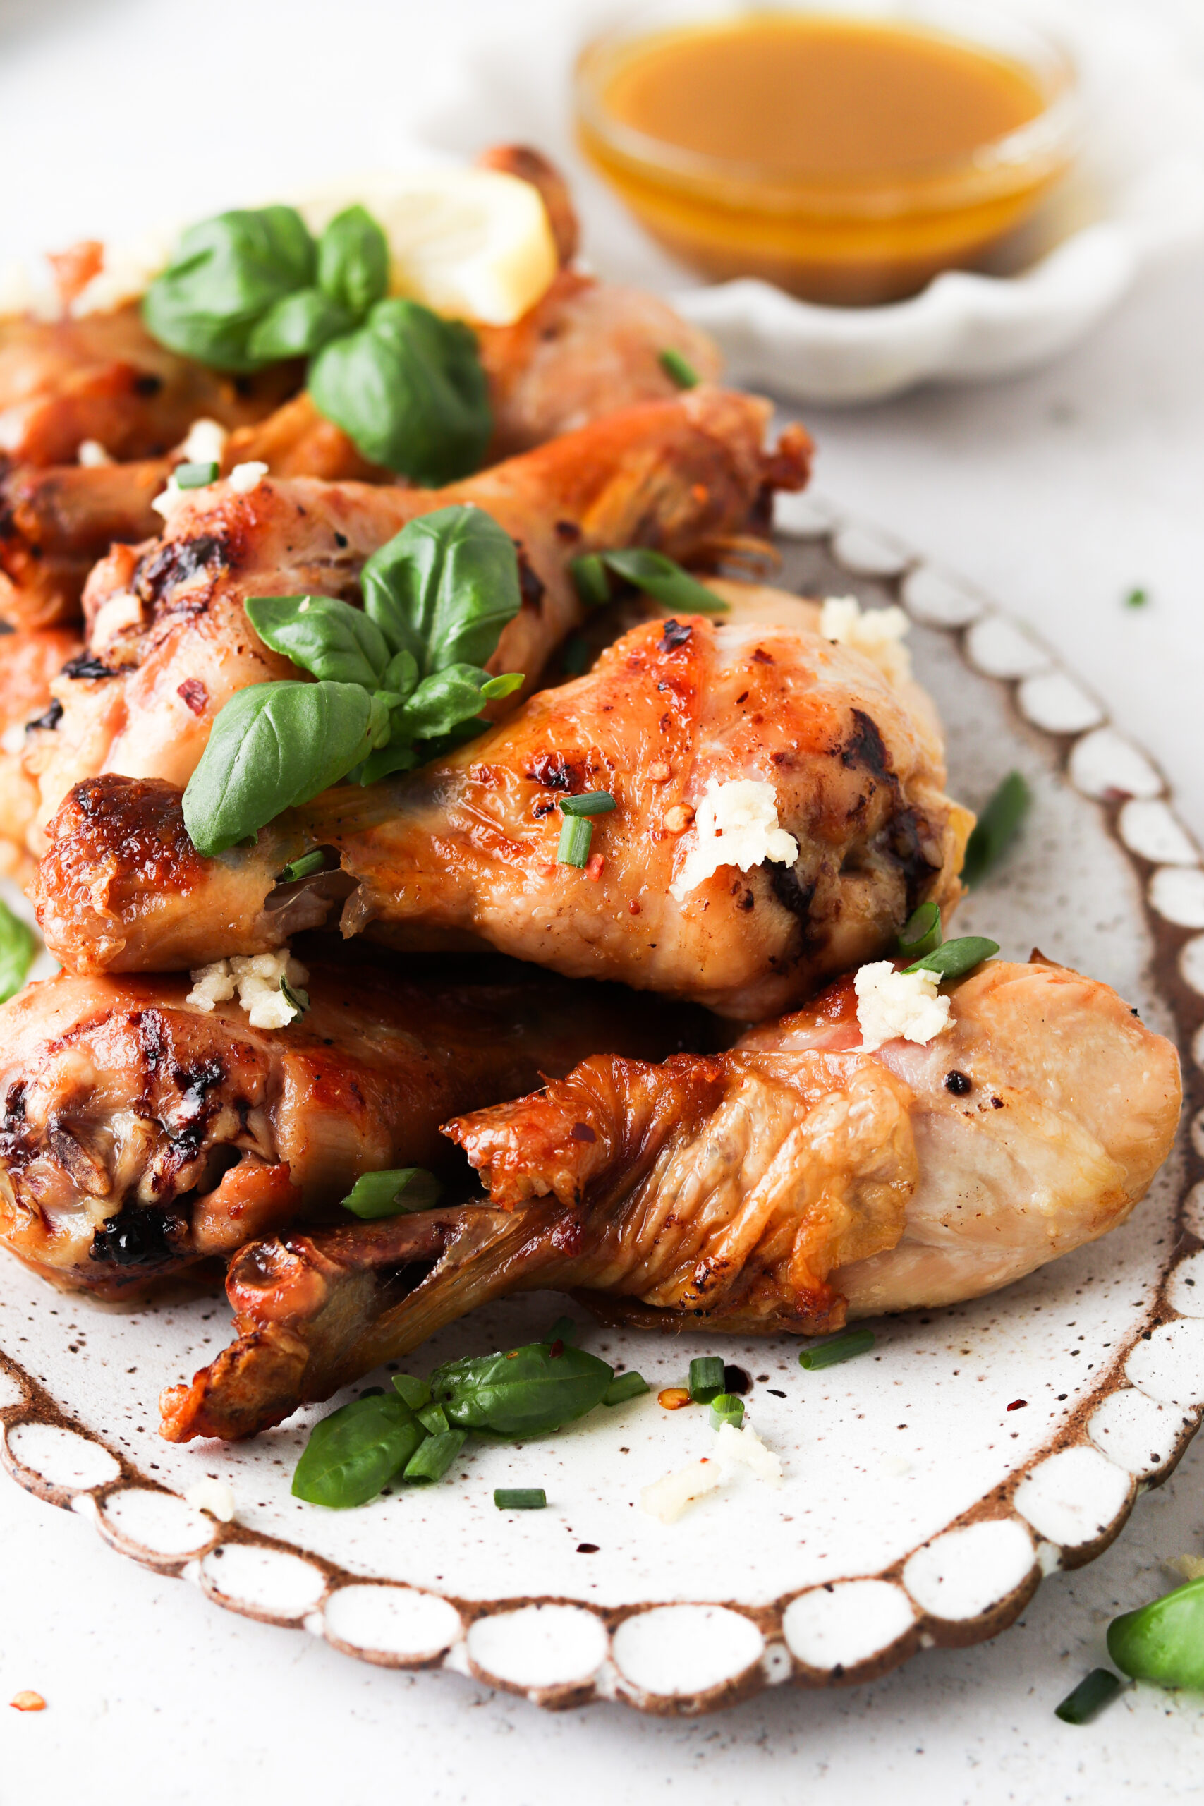
[[[794,854],[746,872],[720,856],[682,890],[704,791],[733,780],[776,796]],[[38,914],[74,972],[171,970],[278,946],[341,887],[345,934],[489,945],[751,1020],[890,952],[922,899],[953,907],[971,818],[942,786],[926,699],[859,652],[755,616],[659,619],[451,757],[327,791],[217,860],[166,786],[81,784],[52,824]],[[558,804],[579,791],[617,802],[585,870],[558,863]],[[276,874],[312,847],[341,872],[276,907]]]

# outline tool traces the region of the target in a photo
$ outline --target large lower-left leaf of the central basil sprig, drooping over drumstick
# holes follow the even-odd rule
[[[388,710],[354,683],[258,683],[213,722],[184,791],[199,852],[226,852],[347,777],[388,735]]]

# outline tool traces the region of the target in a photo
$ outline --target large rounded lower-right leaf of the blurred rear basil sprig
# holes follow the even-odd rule
[[[309,392],[366,459],[428,488],[478,470],[493,432],[475,334],[419,302],[377,302],[318,352]]]

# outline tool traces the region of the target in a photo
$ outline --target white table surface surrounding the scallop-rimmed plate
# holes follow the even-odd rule
[[[1199,0],[1148,0],[1204,58]],[[0,0],[0,260],[379,164],[486,25],[538,40],[552,0]],[[229,191],[229,190],[227,190]],[[1031,621],[1148,748],[1204,834],[1204,255],[1148,278],[1052,368],[814,412],[818,488]],[[1150,605],[1126,610],[1141,585]],[[1204,1443],[1092,1566],[995,1643],[845,1692],[780,1689],[702,1721],[558,1718],[238,1620],[0,1483],[0,1806],[690,1797],[823,1806],[1195,1797],[1204,1701],[1137,1689],[1052,1718],[1159,1564],[1204,1551]]]

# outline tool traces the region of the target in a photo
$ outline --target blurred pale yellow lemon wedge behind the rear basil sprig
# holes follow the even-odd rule
[[[439,314],[507,327],[556,275],[556,242],[531,182],[498,170],[421,170],[339,184],[298,202],[318,235],[357,200],[384,228],[390,293]]]

